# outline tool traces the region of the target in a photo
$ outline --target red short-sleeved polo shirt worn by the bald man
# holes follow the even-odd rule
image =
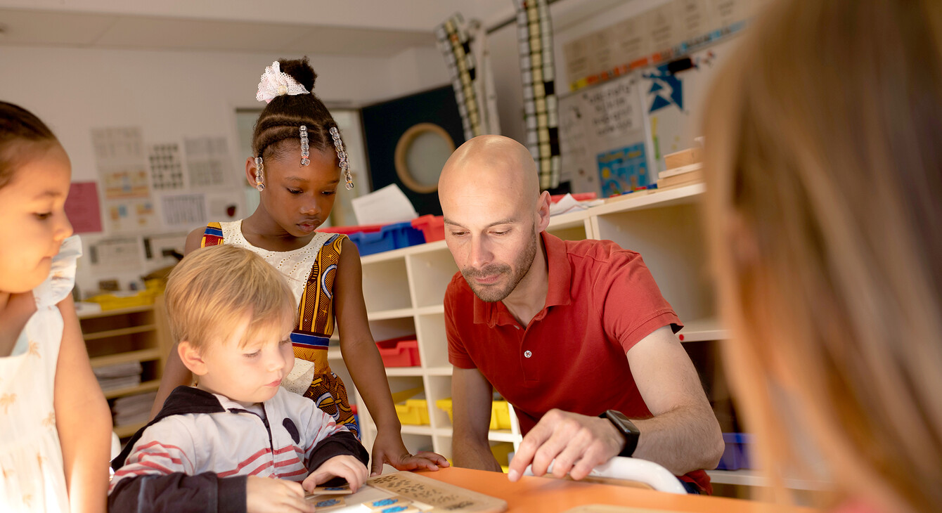
[[[640,254],[611,241],[542,233],[544,309],[520,326],[502,301],[486,303],[456,273],[445,293],[448,361],[477,368],[517,412],[526,434],[549,409],[652,417],[625,353],[655,329],[683,325]],[[703,471],[690,480],[709,490]]]

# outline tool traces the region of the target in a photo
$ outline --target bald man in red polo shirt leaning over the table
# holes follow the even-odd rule
[[[460,269],[445,297],[455,464],[500,471],[487,439],[496,390],[525,435],[512,481],[531,463],[543,475],[554,459],[554,475],[581,479],[621,455],[710,492],[703,469],[716,468],[723,435],[641,256],[544,232],[549,194],[528,150],[507,137],[464,143],[438,195]]]

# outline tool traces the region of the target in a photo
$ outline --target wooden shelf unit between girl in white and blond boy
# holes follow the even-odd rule
[[[140,364],[138,383],[104,388],[109,405],[121,397],[157,390],[171,346],[168,344],[170,336],[163,297],[158,297],[154,305],[79,313],[78,318],[92,370],[100,373],[103,369],[122,364]],[[149,405],[147,409],[150,409]],[[119,437],[125,438],[133,435],[143,424],[115,425],[114,430]]]

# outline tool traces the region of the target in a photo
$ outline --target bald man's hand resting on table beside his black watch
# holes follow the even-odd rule
[[[508,477],[517,481],[530,463],[534,475],[544,475],[553,463],[555,477],[582,479],[624,446],[625,438],[607,419],[550,409],[520,442]]]

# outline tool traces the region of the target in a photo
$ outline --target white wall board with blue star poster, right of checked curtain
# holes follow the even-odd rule
[[[707,93],[738,40],[690,54],[690,70],[664,63],[560,98],[561,181],[601,197],[656,183],[664,154],[703,135]]]

